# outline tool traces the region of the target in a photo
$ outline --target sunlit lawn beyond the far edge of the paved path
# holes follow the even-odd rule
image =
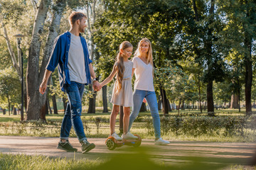
[[[245,111],[242,110],[241,113],[238,110],[225,109],[216,110],[216,115],[245,115]],[[183,115],[206,115],[206,111],[203,113],[196,111],[180,111]],[[139,113],[139,118],[144,116],[150,117],[151,113],[149,111],[144,113]],[[160,114],[162,115],[162,114]],[[178,111],[172,111],[169,115],[178,115]],[[0,114],[0,135],[22,135],[22,136],[40,136],[40,137],[59,137],[60,135],[60,125],[63,120],[63,113],[58,115],[46,115],[46,123],[40,123],[38,121],[30,121],[28,123],[19,122],[20,115],[1,115]],[[107,137],[110,133],[109,128],[109,118],[110,113],[82,113],[82,122],[85,127],[85,134],[87,137]],[[96,118],[101,118],[102,121],[100,125],[95,123]],[[138,120],[139,120],[138,118]],[[152,125],[150,125],[151,128]],[[119,115],[117,115],[116,131],[119,132]],[[132,132],[140,135],[143,139],[154,139],[154,135],[148,132],[149,129],[146,128],[146,122],[135,121],[132,126]],[[200,135],[198,137],[193,137],[192,135],[175,135],[174,132],[169,132],[162,137],[166,140],[174,141],[206,141],[206,142],[255,142],[256,135],[252,130],[245,130],[246,136],[241,137],[239,135],[233,135],[231,137],[223,135]],[[76,137],[74,130],[70,132],[70,137]]]

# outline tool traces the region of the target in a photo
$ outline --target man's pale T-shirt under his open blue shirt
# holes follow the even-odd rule
[[[80,36],[71,34],[70,50],[68,52],[68,71],[70,81],[86,84],[85,55],[82,48]]]

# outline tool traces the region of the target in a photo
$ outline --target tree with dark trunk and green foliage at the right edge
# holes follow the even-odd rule
[[[245,106],[246,113],[252,112],[252,50],[256,37],[256,2],[253,0],[220,1],[220,11],[225,16],[226,27],[222,41],[241,55],[245,68]],[[231,43],[230,43],[231,42]]]

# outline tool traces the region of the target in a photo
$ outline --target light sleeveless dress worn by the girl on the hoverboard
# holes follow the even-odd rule
[[[117,62],[114,63],[117,65]],[[111,103],[124,106],[124,107],[132,107],[132,67],[133,62],[129,61],[124,62],[124,77],[122,79],[122,89],[120,89],[119,93],[116,89],[117,81],[114,82],[114,89],[112,92]]]

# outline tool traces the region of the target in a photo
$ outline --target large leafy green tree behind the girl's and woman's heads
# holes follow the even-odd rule
[[[165,59],[176,59],[171,55],[171,46],[186,24],[187,1],[108,1],[106,8],[95,24],[95,44],[101,54],[99,69],[102,77],[110,74],[110,65],[114,64],[114,56],[123,40],[137,44],[141,38],[149,38],[155,67],[162,67]],[[165,90],[161,89],[162,101],[168,103]],[[168,113],[168,104],[164,104],[164,113]]]

